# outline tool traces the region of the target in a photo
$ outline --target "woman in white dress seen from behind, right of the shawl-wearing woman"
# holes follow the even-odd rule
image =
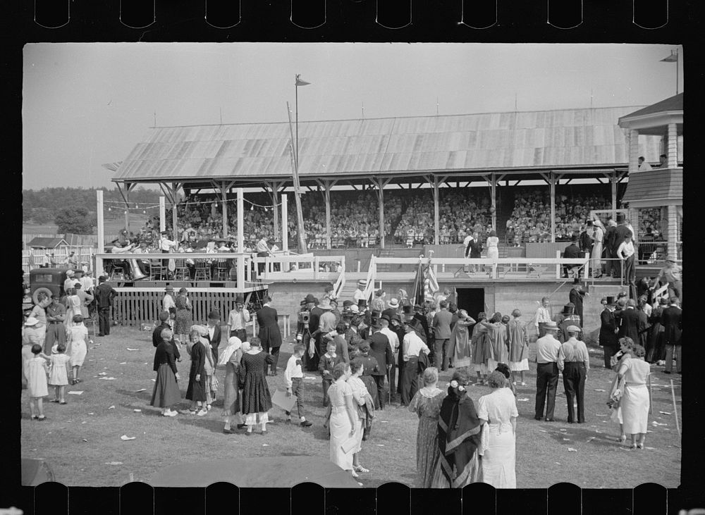
[[[482,428],[482,482],[494,488],[517,488],[515,472],[517,402],[505,388],[503,373],[494,371],[487,378],[488,395],[477,401],[477,416]]]

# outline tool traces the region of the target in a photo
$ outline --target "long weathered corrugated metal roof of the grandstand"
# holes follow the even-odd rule
[[[618,119],[631,107],[299,122],[302,179],[626,166]],[[289,176],[287,123],[152,128],[115,181]],[[658,137],[640,155],[658,161]]]

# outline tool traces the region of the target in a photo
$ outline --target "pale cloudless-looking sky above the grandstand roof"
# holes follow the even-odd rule
[[[154,125],[641,106],[675,94],[675,46],[27,44],[23,188],[111,187]],[[679,65],[680,66],[680,65]],[[682,91],[682,66],[680,89]],[[592,103],[592,104],[591,104]]]

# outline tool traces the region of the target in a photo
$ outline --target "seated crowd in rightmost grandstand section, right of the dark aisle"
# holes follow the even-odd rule
[[[573,233],[584,231],[590,211],[609,209],[611,201],[598,194],[556,194],[556,241],[570,241]],[[551,197],[545,187],[515,190],[514,210],[506,223],[510,246],[527,242],[551,241]]]

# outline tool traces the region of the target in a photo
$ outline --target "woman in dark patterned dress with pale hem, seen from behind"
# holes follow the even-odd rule
[[[274,363],[271,354],[262,351],[262,342],[258,337],[250,340],[250,350],[240,360],[240,386],[243,390],[243,415],[247,425],[247,436],[252,435],[252,428],[259,423],[262,435],[266,435],[267,412],[271,409],[271,395],[266,383],[267,365]],[[258,422],[259,419],[259,422]]]

